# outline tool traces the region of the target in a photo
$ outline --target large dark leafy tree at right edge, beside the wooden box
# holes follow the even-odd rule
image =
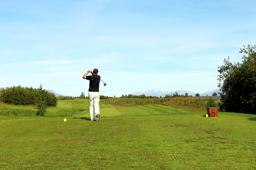
[[[243,46],[242,63],[232,64],[224,59],[218,67],[221,104],[220,110],[227,112],[255,113],[256,106],[256,45]]]

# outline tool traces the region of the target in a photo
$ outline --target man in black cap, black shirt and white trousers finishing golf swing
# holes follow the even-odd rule
[[[83,75],[83,79],[90,80],[89,99],[90,99],[91,121],[97,121],[98,122],[100,120],[100,107],[99,107],[99,102],[100,102],[100,93],[99,93],[100,76],[98,75],[98,69],[93,70],[93,74],[95,74],[95,75],[87,76],[88,73],[92,73],[92,71],[88,70]]]

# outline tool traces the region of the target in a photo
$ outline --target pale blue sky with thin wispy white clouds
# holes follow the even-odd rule
[[[256,44],[256,1],[1,1],[0,86],[88,95],[218,87],[218,66]]]

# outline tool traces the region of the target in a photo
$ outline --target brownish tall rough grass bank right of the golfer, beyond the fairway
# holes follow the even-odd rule
[[[144,104],[163,104],[165,106],[175,107],[186,111],[205,112],[207,99],[195,99],[175,97],[168,99],[139,99],[139,98],[118,98],[118,99],[103,99],[102,103],[112,104],[114,106],[132,106]]]

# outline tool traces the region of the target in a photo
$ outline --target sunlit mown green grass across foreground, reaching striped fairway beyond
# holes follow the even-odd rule
[[[85,110],[67,122],[0,122],[0,169],[256,169],[255,115],[101,103],[100,121],[91,122],[88,105],[80,104],[68,105]]]

